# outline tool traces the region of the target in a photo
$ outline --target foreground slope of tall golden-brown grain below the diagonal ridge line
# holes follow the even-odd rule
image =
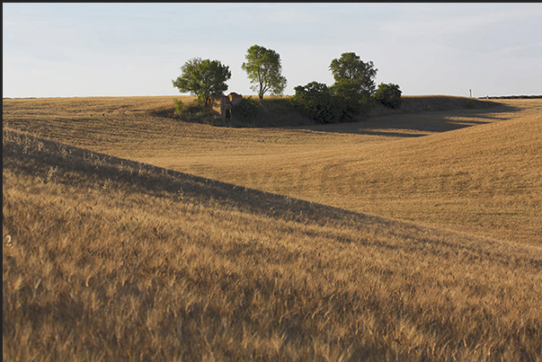
[[[3,178],[5,361],[542,359],[540,246],[7,130]]]

